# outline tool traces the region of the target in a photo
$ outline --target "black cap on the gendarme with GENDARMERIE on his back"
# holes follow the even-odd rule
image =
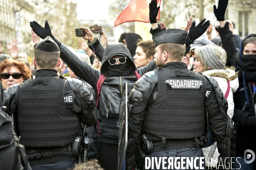
[[[181,29],[167,29],[155,34],[152,39],[155,46],[166,42],[184,45],[187,34],[187,31]]]

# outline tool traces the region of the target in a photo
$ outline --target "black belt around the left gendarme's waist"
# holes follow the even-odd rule
[[[26,154],[37,153],[37,152],[47,152],[47,151],[69,151],[72,152],[73,144],[67,144],[62,147],[26,147]]]

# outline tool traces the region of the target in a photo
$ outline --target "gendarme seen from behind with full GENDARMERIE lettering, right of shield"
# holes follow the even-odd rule
[[[156,46],[166,42],[184,44],[186,34],[183,30],[169,29],[154,35],[153,40]],[[168,51],[163,49],[165,50]],[[160,53],[163,54],[163,51]],[[156,63],[161,62],[157,55],[156,53]],[[169,55],[172,57],[172,54]],[[182,57],[180,61],[181,59]],[[206,132],[207,111],[209,123],[218,143],[218,151],[221,156],[227,157],[228,149],[224,149],[229,138],[226,132],[227,116],[224,111],[221,112],[223,108],[219,102],[222,100],[216,97],[218,88],[216,90],[213,87],[217,87],[218,83],[215,84],[214,80],[189,71],[183,62],[166,61],[162,60],[163,67],[144,74],[129,94],[131,113],[128,119],[128,139],[138,141],[142,131],[142,134],[153,143],[153,153],[147,155],[150,159],[204,157],[201,150],[204,142],[201,137]],[[134,167],[134,149],[134,144],[128,146],[127,170]]]

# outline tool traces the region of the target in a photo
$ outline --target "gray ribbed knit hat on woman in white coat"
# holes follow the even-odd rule
[[[203,54],[205,62],[209,66],[210,69],[223,69],[225,68],[225,64],[221,62],[221,60],[216,56],[214,51],[214,46],[216,45],[205,45],[203,47],[197,48],[197,51],[200,51]]]

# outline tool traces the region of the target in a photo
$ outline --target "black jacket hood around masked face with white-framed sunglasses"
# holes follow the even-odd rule
[[[131,72],[134,72],[136,70],[136,66],[131,58],[131,54],[128,50],[128,48],[125,46],[123,43],[118,43],[118,44],[108,44],[107,47],[105,48],[104,55],[102,58],[102,67],[100,69],[101,73],[104,74],[105,76],[108,75],[108,59],[115,55],[122,55],[127,57],[126,62],[129,63],[129,67],[131,67]],[[128,75],[127,75],[128,76]]]

